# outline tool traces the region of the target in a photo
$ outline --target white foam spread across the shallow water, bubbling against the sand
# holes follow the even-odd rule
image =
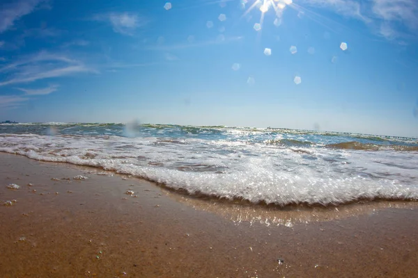
[[[228,199],[268,204],[418,200],[414,152],[284,148],[228,140],[1,135],[0,151],[100,167]]]

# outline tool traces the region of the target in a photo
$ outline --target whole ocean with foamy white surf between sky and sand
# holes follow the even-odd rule
[[[418,200],[418,139],[169,124],[0,124],[0,152],[288,206]]]

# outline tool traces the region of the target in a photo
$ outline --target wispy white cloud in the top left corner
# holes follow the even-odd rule
[[[20,0],[1,4],[0,33],[12,28],[20,17],[32,13],[36,6],[42,2],[45,2],[45,0]]]

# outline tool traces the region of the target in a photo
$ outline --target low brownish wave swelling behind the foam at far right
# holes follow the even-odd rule
[[[341,142],[336,144],[328,144],[325,147],[332,149],[355,149],[364,151],[397,151],[397,152],[418,152],[418,146],[405,145],[377,145],[365,144],[362,142]]]

